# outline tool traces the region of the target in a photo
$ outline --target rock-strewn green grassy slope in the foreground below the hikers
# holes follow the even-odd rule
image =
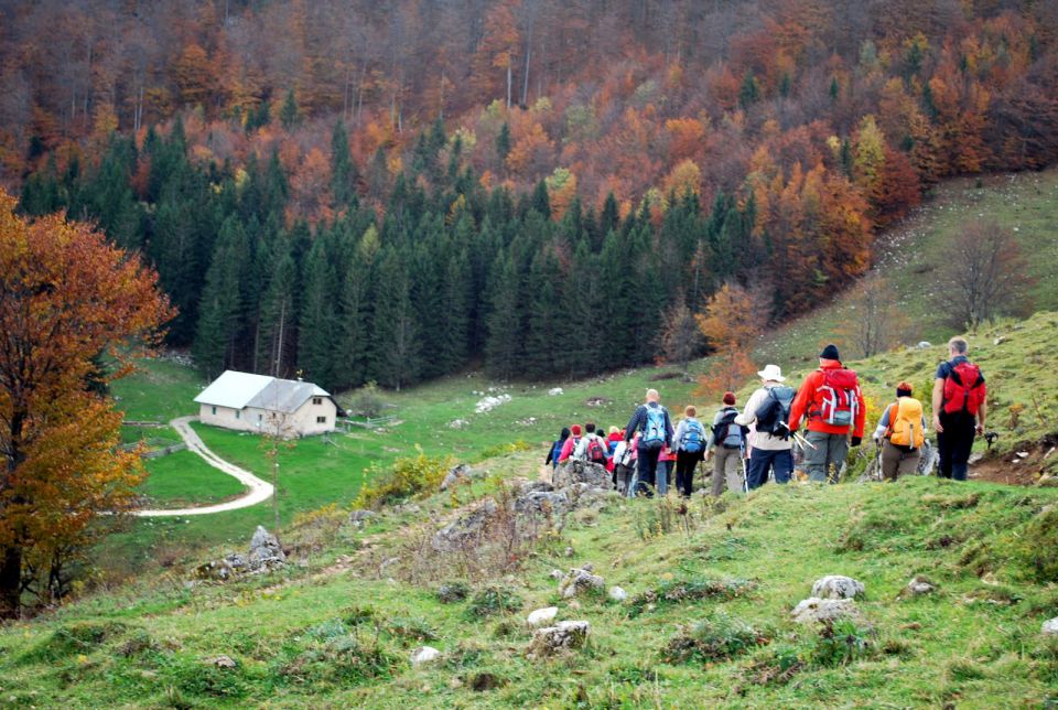
[[[525,455],[512,463],[508,467],[533,467]],[[560,540],[527,560],[509,580],[522,599],[516,614],[484,618],[465,602],[441,604],[430,588],[378,578],[377,560],[400,555],[414,523],[407,513],[387,514],[367,531],[344,527],[334,536],[328,556],[355,555],[368,534],[376,548],[368,556],[374,561],[331,574],[294,568],[193,590],[179,577],[164,578],[9,627],[0,633],[3,697],[71,708],[565,708],[577,698],[585,707],[615,708],[1036,704],[1054,697],[1058,682],[1058,648],[1038,636],[1040,622],[1058,613],[1058,570],[1049,556],[1051,567],[1034,563],[1039,546],[1052,544],[1056,502],[1056,491],[933,478],[771,486],[745,502],[728,501],[725,512],[695,502],[687,531],[646,540],[637,529],[657,503],[613,505],[579,516]],[[436,496],[423,505],[443,512],[447,503],[449,496]],[[377,536],[387,530],[404,535]],[[558,552],[566,544],[576,550],[572,559]],[[631,618],[627,604],[605,598],[582,599],[580,609],[558,599],[548,571],[584,561],[633,595],[672,578],[752,579],[757,588],[731,601],[659,604]],[[788,621],[825,573],[846,573],[867,587],[860,605],[876,633],[866,636],[871,649],[848,666],[812,664],[816,633]],[[916,573],[927,573],[940,592],[897,600]],[[560,618],[590,621],[592,642],[565,658],[529,660],[530,633],[520,620],[549,604],[560,607]],[[770,643],[715,664],[661,659],[680,624],[717,610]],[[370,620],[359,632],[336,623],[365,615]],[[413,669],[408,654],[423,634],[436,636],[429,643],[445,657]],[[337,644],[345,656],[327,655],[331,637],[330,647]],[[388,659],[381,678],[361,677],[365,647]],[[789,682],[758,682],[752,667],[774,663],[776,653],[808,666]],[[207,659],[218,654],[234,657],[238,669],[210,669]],[[468,687],[486,674],[498,688]],[[464,685],[454,688],[454,678]]]

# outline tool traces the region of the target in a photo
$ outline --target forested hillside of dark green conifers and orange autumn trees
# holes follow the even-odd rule
[[[862,273],[938,180],[1058,157],[1047,2],[47,0],[0,20],[0,182],[142,249],[171,343],[210,374],[644,362],[725,282],[782,319]]]

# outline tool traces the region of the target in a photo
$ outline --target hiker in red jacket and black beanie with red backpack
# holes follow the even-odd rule
[[[809,480],[836,483],[849,455],[849,434],[852,445],[859,447],[866,418],[860,378],[841,364],[836,345],[823,348],[819,369],[809,374],[797,390],[790,407],[790,431],[797,431],[802,418],[808,422],[805,467]]]

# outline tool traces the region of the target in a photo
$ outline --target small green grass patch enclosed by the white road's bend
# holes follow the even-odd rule
[[[177,508],[219,503],[246,491],[237,480],[186,449],[160,459],[148,459],[144,465],[148,477],[141,491],[151,506]]]

